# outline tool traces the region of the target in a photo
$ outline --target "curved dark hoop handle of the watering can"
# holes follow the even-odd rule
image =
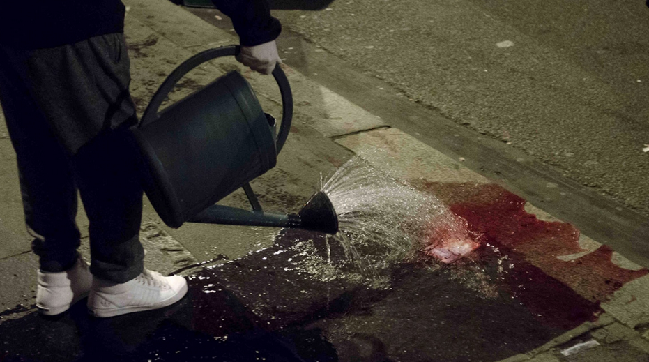
[[[146,110],[144,111],[139,127],[146,126],[146,124],[158,119],[158,109],[160,109],[162,101],[167,98],[169,92],[171,92],[174,89],[174,86],[176,86],[176,83],[189,73],[190,70],[206,61],[211,61],[212,59],[220,58],[222,56],[235,56],[240,52],[240,49],[241,48],[238,45],[217,47],[214,49],[204,50],[203,52],[200,52],[184,61],[180,66],[178,66],[178,68],[169,74],[165,82],[162,82],[158,91],[155,91],[153,98],[151,98],[151,103],[148,104],[148,107],[146,107]],[[279,63],[275,66],[275,70],[273,70],[273,77],[275,77],[277,85],[280,86],[280,94],[282,95],[282,125],[280,126],[280,131],[277,133],[276,141],[277,153],[279,153],[282,146],[284,146],[287,137],[289,137],[289,129],[291,128],[291,120],[293,119],[293,95],[291,93],[289,80]]]

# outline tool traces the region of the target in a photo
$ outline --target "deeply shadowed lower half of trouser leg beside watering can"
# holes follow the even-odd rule
[[[139,241],[142,183],[130,131],[106,130],[72,157],[84,209],[90,220],[91,272],[127,282],[144,269]]]

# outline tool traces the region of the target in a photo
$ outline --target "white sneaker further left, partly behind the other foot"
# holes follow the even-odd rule
[[[59,315],[88,296],[93,276],[79,255],[72,268],[59,273],[38,271],[36,307],[44,315]]]

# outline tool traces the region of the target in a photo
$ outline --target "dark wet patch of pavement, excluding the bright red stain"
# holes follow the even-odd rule
[[[58,319],[0,324],[3,361],[466,361],[487,346],[494,357],[524,352],[561,332],[450,273],[404,266],[390,287],[373,289],[314,280],[299,266],[310,255],[279,250],[192,276],[188,298],[165,310],[95,319],[79,303]],[[300,271],[284,268],[291,257],[301,257]]]

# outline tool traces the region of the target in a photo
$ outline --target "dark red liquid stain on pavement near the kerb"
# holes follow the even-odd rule
[[[507,256],[511,269],[502,273],[505,289],[544,324],[572,329],[602,312],[600,303],[626,282],[644,276],[613,264],[613,250],[594,252],[565,262],[558,256],[583,250],[579,230],[561,222],[539,220],[524,209],[525,199],[495,184],[422,183],[480,234],[480,262]],[[487,247],[489,244],[491,247]],[[496,251],[497,250],[497,251]]]

